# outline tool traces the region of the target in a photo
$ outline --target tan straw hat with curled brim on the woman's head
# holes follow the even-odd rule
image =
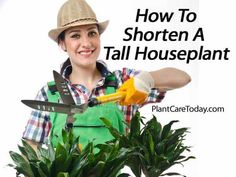
[[[85,0],[68,0],[57,15],[57,28],[49,31],[49,37],[58,42],[58,36],[74,26],[97,24],[99,33],[105,31],[109,21],[98,22],[96,14]]]

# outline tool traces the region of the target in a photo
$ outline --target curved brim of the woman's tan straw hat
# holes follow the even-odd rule
[[[75,27],[75,26],[82,26],[82,25],[92,25],[92,24],[97,24],[98,25],[98,31],[99,31],[99,34],[102,34],[107,26],[108,26],[108,23],[109,21],[104,21],[104,22],[99,22],[99,23],[94,23],[94,22],[91,22],[91,21],[84,21],[84,22],[79,22],[79,23],[73,23],[73,24],[70,24],[70,25],[67,25],[67,26],[64,26],[64,27],[60,27],[60,28],[55,28],[55,29],[52,29],[48,32],[48,36],[54,40],[55,42],[58,42],[58,36],[65,30],[71,28],[71,27]]]

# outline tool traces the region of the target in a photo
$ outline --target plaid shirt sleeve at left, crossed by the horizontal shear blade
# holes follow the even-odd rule
[[[37,94],[35,100],[48,101],[48,86],[45,85]],[[33,110],[23,133],[24,139],[37,143],[45,143],[51,129],[49,113],[44,111]]]

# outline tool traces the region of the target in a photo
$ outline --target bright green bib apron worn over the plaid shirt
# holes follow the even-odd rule
[[[115,91],[114,87],[108,86],[105,94],[111,94]],[[58,92],[52,93],[48,90],[47,96],[49,102],[58,102],[59,100]],[[79,142],[82,144],[82,147],[85,147],[91,141],[93,141],[94,144],[99,144],[114,138],[100,120],[101,117],[108,119],[112,123],[112,126],[119,132],[125,132],[123,123],[124,115],[115,103],[88,107],[84,113],[74,115],[73,132],[76,137],[80,137]],[[50,136],[54,147],[56,147],[58,142],[62,142],[61,131],[65,128],[66,119],[66,114],[50,113],[52,123]]]

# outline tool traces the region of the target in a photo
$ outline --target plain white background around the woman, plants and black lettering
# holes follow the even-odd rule
[[[0,0],[0,77],[1,77],[1,127],[0,127],[0,176],[14,176],[9,151],[17,150],[30,109],[21,99],[34,99],[37,91],[52,80],[52,70],[59,70],[66,55],[50,40],[47,32],[56,26],[57,10],[63,3],[57,1]],[[180,61],[107,61],[111,70],[122,67],[147,71],[171,66],[189,73],[192,82],[186,87],[170,91],[160,106],[222,106],[224,113],[154,113],[163,124],[180,120],[176,127],[190,127],[186,144],[193,146],[190,155],[196,160],[185,166],[173,167],[191,177],[234,176],[235,145],[235,6],[233,0],[88,0],[96,11],[98,19],[110,20],[102,35],[102,45],[138,45],[137,42],[123,42],[126,27],[139,26],[143,29],[161,30],[168,28],[194,30],[202,27],[209,49],[228,47],[229,61],[194,61],[185,64]],[[137,8],[151,11],[177,13],[179,8],[189,8],[198,14],[194,23],[134,23]],[[149,42],[140,43],[153,49],[195,48],[199,43]],[[105,57],[102,51],[101,58]],[[151,105],[144,107],[142,114],[151,117]]]

